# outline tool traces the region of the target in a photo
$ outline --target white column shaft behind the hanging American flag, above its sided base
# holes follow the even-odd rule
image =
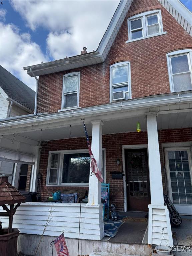
[[[92,140],[91,150],[97,161],[97,166],[101,170],[102,163],[102,125],[101,120],[93,121],[92,123]],[[101,182],[95,175],[89,176],[89,197],[88,205],[100,205],[101,204]]]

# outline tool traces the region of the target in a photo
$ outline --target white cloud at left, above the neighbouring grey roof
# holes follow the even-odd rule
[[[10,73],[18,77],[26,85],[35,89],[35,79],[31,78],[24,66],[40,64],[47,59],[38,44],[31,41],[30,34],[22,33],[13,24],[0,24],[1,31],[1,65]]]

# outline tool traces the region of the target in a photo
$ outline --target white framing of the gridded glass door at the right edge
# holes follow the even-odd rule
[[[191,170],[191,150],[190,147],[166,147],[164,148],[165,152],[165,166],[166,166],[166,173],[167,173],[167,183],[168,183],[168,196],[170,200],[173,202],[173,196],[172,196],[172,188],[171,188],[171,177],[170,177],[170,170],[169,170],[169,159],[168,159],[168,151],[187,151],[188,154],[188,161],[189,161],[189,170],[191,174],[191,180],[192,180],[192,170]],[[174,206],[179,211],[179,213],[188,214],[191,212],[191,205],[190,204],[175,204]]]

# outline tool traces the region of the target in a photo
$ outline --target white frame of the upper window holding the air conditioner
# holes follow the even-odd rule
[[[126,84],[126,83],[119,83],[112,85],[112,68],[117,67],[117,66],[122,66],[127,64],[127,69],[128,69],[128,91],[125,93],[128,94],[128,99],[131,99],[131,62],[130,61],[123,61],[123,62],[117,62],[113,65],[110,66],[110,102],[114,102],[113,100],[113,88],[118,87],[120,85]],[[117,101],[117,100],[115,100]]]

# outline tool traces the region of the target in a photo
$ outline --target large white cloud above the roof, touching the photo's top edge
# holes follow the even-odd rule
[[[13,8],[33,31],[47,29],[47,52],[54,59],[91,52],[117,8],[118,1],[12,1]]]

